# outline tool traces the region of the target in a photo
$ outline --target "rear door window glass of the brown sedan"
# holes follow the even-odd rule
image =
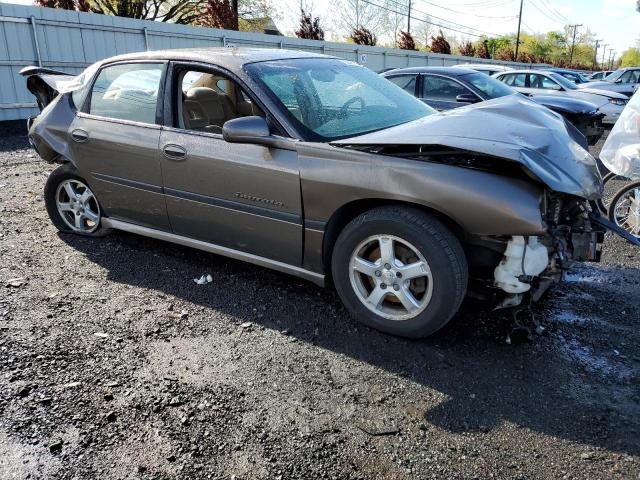
[[[162,63],[128,63],[103,68],[91,90],[89,113],[155,124],[163,69]]]

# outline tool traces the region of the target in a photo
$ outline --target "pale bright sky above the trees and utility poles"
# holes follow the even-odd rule
[[[328,40],[339,41],[341,34],[336,25],[340,20],[340,0],[268,0],[279,15],[276,24],[280,30],[293,34],[299,20],[300,5],[321,17],[321,25]],[[353,0],[352,0],[353,1]],[[408,0],[366,0],[377,5],[396,5],[402,10]],[[411,0],[412,30],[419,29],[419,19],[430,15],[433,23],[440,23],[466,32],[444,29],[445,36],[473,40],[470,33],[494,35],[513,33],[518,25],[520,0]],[[0,0],[6,3],[32,4],[32,0]],[[395,2],[395,3],[394,3]],[[378,7],[373,7],[378,9]],[[384,10],[379,9],[381,13]],[[438,17],[438,18],[436,18]],[[453,25],[450,22],[455,22]],[[610,49],[619,56],[640,39],[640,13],[636,0],[524,0],[522,29],[528,33],[544,33],[563,30],[567,24],[582,24],[578,32],[590,29],[606,44],[606,56]],[[436,30],[437,26],[431,27]],[[472,30],[473,29],[473,30]],[[602,48],[599,53],[602,52]]]

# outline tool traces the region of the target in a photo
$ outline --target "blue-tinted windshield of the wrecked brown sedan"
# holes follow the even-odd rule
[[[368,68],[345,60],[276,60],[245,69],[310,141],[362,135],[435,112]]]

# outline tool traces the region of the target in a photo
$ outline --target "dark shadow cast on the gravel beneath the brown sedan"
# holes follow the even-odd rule
[[[446,431],[484,431],[511,422],[551,437],[640,454],[634,440],[640,418],[628,418],[628,412],[608,405],[590,406],[572,394],[569,385],[576,374],[553,333],[507,345],[510,321],[467,304],[436,336],[408,341],[359,326],[331,289],[284,274],[125,233],[104,239],[61,238],[105,268],[110,281],[163,292],[266,328],[286,329],[317,348],[446,394],[448,401],[424,418]],[[195,286],[191,279],[202,273],[211,273],[214,282]],[[282,295],[284,301],[278,298]],[[252,305],[264,305],[266,313],[256,316]],[[550,307],[537,311],[542,318],[545,308]],[[609,386],[600,385],[599,379],[583,376],[581,381],[596,382],[608,392]],[[610,385],[612,396],[616,388]]]

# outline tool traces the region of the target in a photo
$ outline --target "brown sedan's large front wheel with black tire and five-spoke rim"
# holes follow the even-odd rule
[[[408,338],[441,329],[458,311],[468,280],[455,235],[433,215],[407,207],[380,207],[351,221],[331,266],[356,320]]]

